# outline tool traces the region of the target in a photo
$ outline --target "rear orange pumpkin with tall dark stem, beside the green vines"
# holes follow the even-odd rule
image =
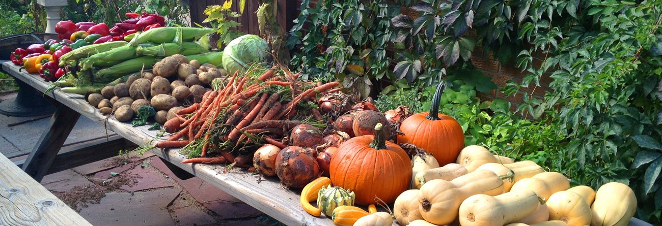
[[[464,132],[457,120],[446,114],[438,114],[439,101],[446,85],[439,83],[432,97],[430,112],[409,116],[400,125],[398,143],[411,143],[432,153],[440,166],[455,163],[459,151],[464,148]]]

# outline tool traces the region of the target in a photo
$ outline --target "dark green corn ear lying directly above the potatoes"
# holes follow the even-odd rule
[[[142,56],[134,59],[129,59],[122,63],[118,63],[117,65],[113,65],[113,67],[108,67],[97,71],[95,78],[99,81],[101,79],[111,79],[112,81],[117,79],[118,77],[122,77],[123,75],[126,75],[127,73],[140,71],[141,69],[143,69],[143,65],[145,70],[152,69],[152,67],[154,67],[154,64],[160,61],[161,59],[163,58],[154,57],[154,56]]]

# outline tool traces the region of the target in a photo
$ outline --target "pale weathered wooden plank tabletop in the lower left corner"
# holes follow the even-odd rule
[[[91,225],[0,154],[0,225]]]

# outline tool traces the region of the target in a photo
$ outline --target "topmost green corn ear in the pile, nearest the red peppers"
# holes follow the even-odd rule
[[[134,37],[129,45],[136,46],[144,42],[154,42],[154,43],[167,43],[175,42],[175,37],[177,36],[177,30],[181,32],[181,42],[193,42],[194,40],[201,38],[207,34],[212,34],[216,32],[216,29],[213,28],[187,28],[187,27],[164,27],[164,28],[152,28],[146,32],[138,34]]]

